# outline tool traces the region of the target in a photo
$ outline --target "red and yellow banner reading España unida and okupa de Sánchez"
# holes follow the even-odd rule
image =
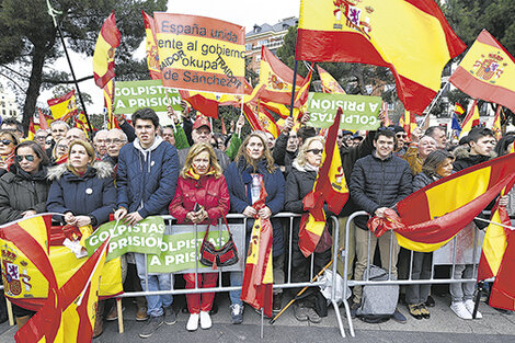
[[[153,13],[164,87],[244,93],[244,27],[187,14]]]

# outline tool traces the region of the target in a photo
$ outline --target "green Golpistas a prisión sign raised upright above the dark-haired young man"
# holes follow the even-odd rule
[[[161,80],[116,81],[114,103],[114,113],[117,114],[131,114],[141,107],[167,112],[167,106],[170,104],[173,110],[183,110],[179,91],[164,88]]]

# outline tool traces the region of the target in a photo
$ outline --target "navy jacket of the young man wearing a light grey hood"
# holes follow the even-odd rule
[[[178,150],[159,136],[149,149],[136,139],[119,150],[116,176],[118,207],[142,218],[168,215],[179,178]]]

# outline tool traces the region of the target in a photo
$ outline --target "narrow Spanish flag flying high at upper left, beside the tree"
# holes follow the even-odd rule
[[[102,89],[114,78],[114,54],[121,38],[113,11],[102,25],[93,53],[93,77],[96,85]]]

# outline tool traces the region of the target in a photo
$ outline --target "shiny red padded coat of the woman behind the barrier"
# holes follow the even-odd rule
[[[215,175],[206,175],[194,180],[180,176],[175,196],[170,203],[170,215],[183,224],[186,220],[186,215],[194,210],[195,204],[204,206],[207,211],[208,220],[204,224],[220,218],[222,213],[227,215],[230,208],[230,198],[226,178],[220,175],[216,179]]]

